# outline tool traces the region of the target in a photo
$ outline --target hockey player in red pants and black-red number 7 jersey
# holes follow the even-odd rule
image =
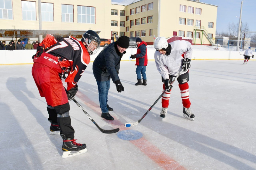
[[[99,49],[100,37],[92,30],[86,31],[81,41],[71,36],[63,38],[47,34],[33,56],[32,76],[41,97],[45,97],[47,102],[50,135],[60,133],[63,139],[63,158],[87,151],[86,144],[78,144],[74,139],[68,100],[74,99],[78,90],[77,82],[90,63],[90,55],[96,54]],[[67,78],[65,73],[68,74]],[[67,91],[62,78],[66,78]]]

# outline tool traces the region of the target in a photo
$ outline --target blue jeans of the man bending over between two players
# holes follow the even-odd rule
[[[102,113],[108,113],[107,102],[108,102],[108,90],[110,88],[110,80],[98,81],[96,80],[99,90],[99,101]]]

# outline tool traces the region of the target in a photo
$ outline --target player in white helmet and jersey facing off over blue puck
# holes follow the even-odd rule
[[[164,82],[163,89],[167,89],[162,96],[161,117],[165,117],[171,95],[172,78],[176,77],[182,69],[184,72],[177,78],[183,104],[183,116],[194,121],[195,115],[191,112],[188,92],[188,68],[190,67],[192,45],[188,41],[173,41],[168,44],[165,37],[157,37],[154,43],[156,68]],[[163,91],[164,91],[163,90]]]

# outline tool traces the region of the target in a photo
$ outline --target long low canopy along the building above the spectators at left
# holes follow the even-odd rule
[[[46,34],[55,34],[65,37],[71,35],[74,38],[82,38],[82,35],[86,32],[76,31],[76,30],[18,30],[18,29],[0,29],[0,37],[9,37],[9,38],[39,38],[39,35],[46,36]],[[95,31],[97,34],[100,31]]]

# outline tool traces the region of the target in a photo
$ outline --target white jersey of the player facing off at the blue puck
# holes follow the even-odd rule
[[[183,58],[191,58],[193,51],[191,43],[185,40],[177,40],[169,44],[172,46],[170,55],[155,52],[156,68],[164,79],[169,79],[169,74],[176,76],[182,69]]]

